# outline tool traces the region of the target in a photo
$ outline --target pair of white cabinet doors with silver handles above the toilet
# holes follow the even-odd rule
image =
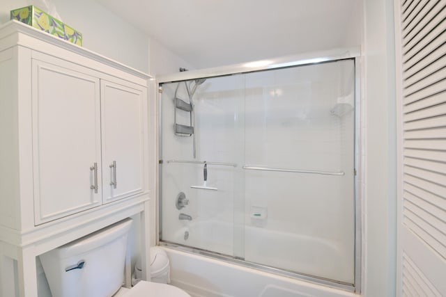
[[[31,82],[36,225],[144,192],[146,88],[38,58]]]

